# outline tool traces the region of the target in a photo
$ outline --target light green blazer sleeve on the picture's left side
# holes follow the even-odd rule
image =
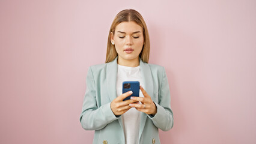
[[[85,130],[100,130],[120,117],[114,115],[110,103],[98,107],[96,82],[91,67],[88,70],[86,83],[87,88],[85,91],[80,122]]]

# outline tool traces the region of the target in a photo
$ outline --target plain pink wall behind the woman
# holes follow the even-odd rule
[[[163,65],[162,143],[256,143],[256,1],[0,1],[0,143],[92,143],[79,122],[115,15],[138,10]]]

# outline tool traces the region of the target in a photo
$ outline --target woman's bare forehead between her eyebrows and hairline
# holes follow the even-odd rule
[[[142,28],[140,25],[138,25],[136,22],[130,21],[130,22],[121,22],[117,25],[115,28],[115,31],[122,31],[122,32],[135,32],[135,31],[141,31]]]

